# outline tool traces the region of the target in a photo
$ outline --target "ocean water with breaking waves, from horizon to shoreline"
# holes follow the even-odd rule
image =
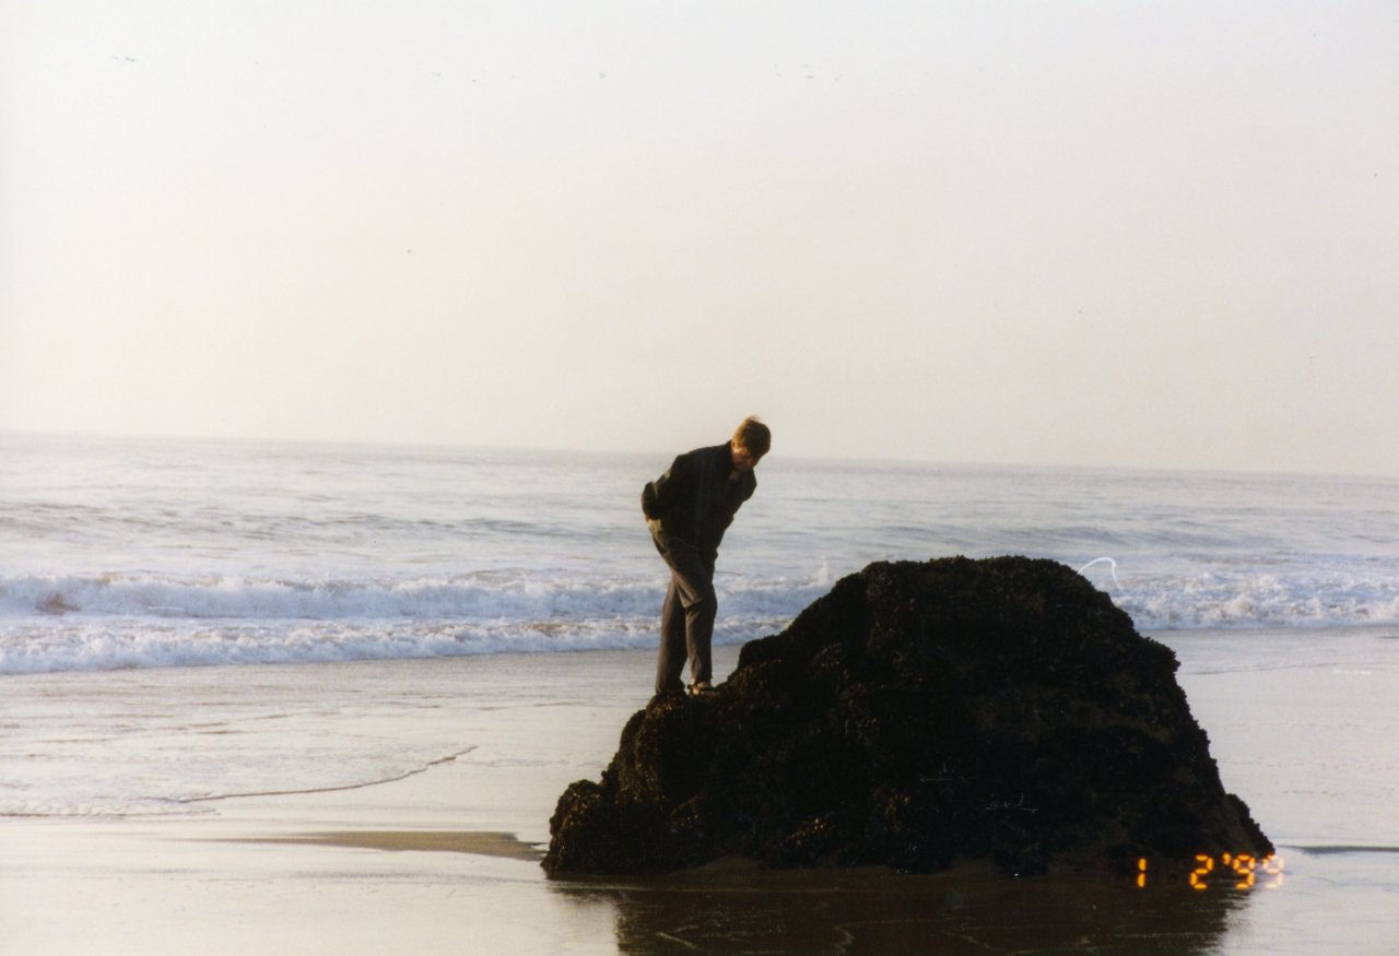
[[[0,437],[0,675],[649,647],[666,454]],[[716,640],[872,560],[1023,553],[1142,632],[1399,623],[1399,479],[769,456]]]

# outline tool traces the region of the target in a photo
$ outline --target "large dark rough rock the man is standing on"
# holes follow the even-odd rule
[[[874,563],[744,646],[715,696],[638,711],[602,783],[560,798],[544,868],[1260,858],[1175,669],[1063,565]]]

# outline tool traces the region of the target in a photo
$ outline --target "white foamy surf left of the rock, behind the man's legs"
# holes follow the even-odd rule
[[[824,590],[734,581],[716,639],[778,630]],[[648,647],[660,598],[656,581],[24,577],[0,583],[0,674]]]

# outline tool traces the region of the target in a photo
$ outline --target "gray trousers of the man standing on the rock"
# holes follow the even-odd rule
[[[684,692],[680,679],[686,660],[690,678],[698,683],[713,679],[709,640],[719,601],[713,594],[715,555],[680,542],[663,545],[655,537],[656,551],[670,567],[670,587],[660,605],[660,657],[656,661],[656,693]]]

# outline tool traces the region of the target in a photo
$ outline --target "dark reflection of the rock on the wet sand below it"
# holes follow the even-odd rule
[[[557,881],[616,911],[623,953],[1207,953],[1247,893],[978,871],[771,872]]]

